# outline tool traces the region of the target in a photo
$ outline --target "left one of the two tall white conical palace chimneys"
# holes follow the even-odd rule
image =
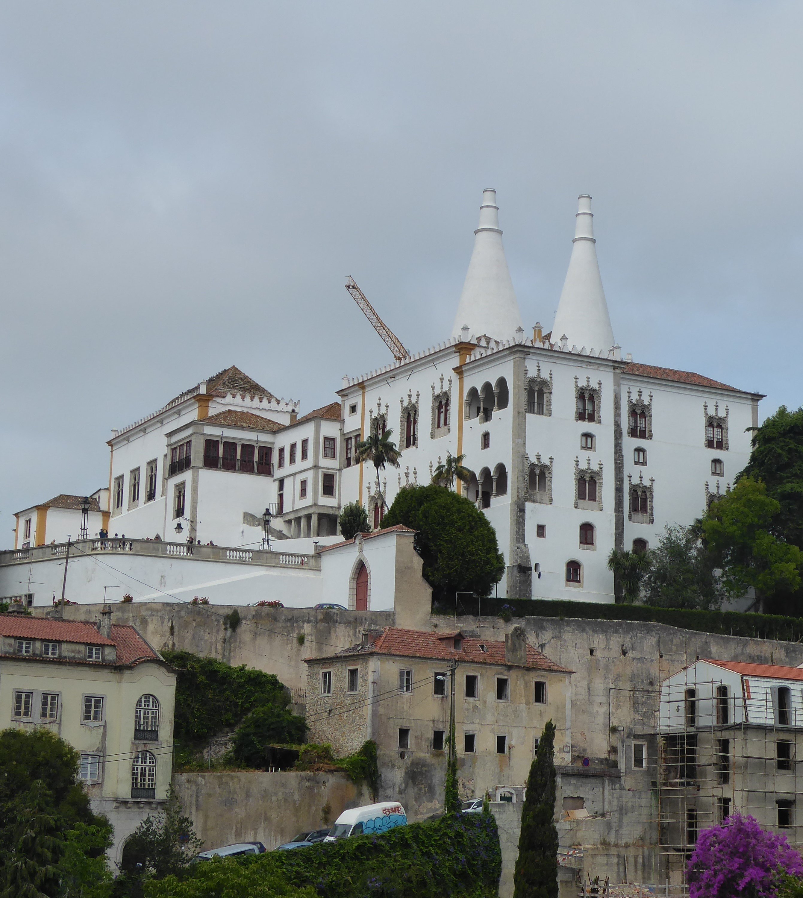
[[[495,339],[515,337],[516,328],[522,326],[516,291],[502,246],[497,191],[493,189],[482,191],[480,225],[474,232],[474,251],[457,306],[452,336],[461,337],[466,324],[473,337],[487,334]]]

